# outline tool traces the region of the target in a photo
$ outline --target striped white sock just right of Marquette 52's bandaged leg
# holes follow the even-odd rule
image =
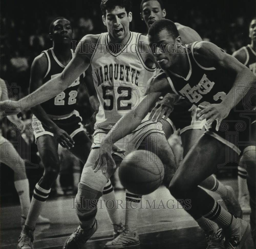
[[[103,189],[102,199],[105,202],[105,206],[112,225],[119,225],[121,223],[121,218],[117,209],[118,207],[115,199],[115,193],[110,180],[107,181],[106,186]]]

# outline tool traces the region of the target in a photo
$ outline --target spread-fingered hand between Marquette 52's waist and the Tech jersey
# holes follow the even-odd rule
[[[152,109],[149,119],[159,121],[165,115],[164,120],[166,120],[172,113],[174,104],[179,98],[180,97],[176,94],[167,93],[164,98]]]

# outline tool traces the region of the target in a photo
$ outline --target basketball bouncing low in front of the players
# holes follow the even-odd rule
[[[162,183],[164,166],[159,157],[144,150],[128,154],[119,168],[119,178],[125,189],[138,195],[150,194]]]

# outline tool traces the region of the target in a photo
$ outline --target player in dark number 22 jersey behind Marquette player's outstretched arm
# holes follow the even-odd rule
[[[49,31],[53,47],[43,51],[34,59],[31,66],[30,92],[35,91],[48,80],[59,76],[73,57],[73,52],[70,49],[73,34],[70,21],[64,17],[58,17],[50,24]],[[90,75],[90,72],[86,74],[86,81],[91,80]],[[31,108],[34,114],[33,121],[36,123],[34,135],[45,171],[36,184],[29,214],[19,238],[19,249],[33,248],[35,222],[44,208],[51,191],[51,185],[56,180],[60,170],[58,144],[68,148],[82,163],[86,163],[91,140],[82,127],[82,118],[75,110],[77,90],[83,81],[83,76],[84,73],[78,75],[66,90],[62,92],[58,90],[56,92],[58,95]],[[108,187],[106,200],[114,199],[111,183],[108,182],[106,187]],[[119,221],[118,224],[113,225],[114,234],[118,233],[122,227],[121,218],[115,213],[116,210],[108,209],[108,211],[111,214],[114,213],[115,219]]]

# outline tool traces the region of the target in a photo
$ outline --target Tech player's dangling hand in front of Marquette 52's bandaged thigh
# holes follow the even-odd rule
[[[111,144],[110,137],[106,136],[101,144],[100,144],[100,153],[99,153],[99,159],[96,161],[95,165],[93,166],[94,172],[97,172],[98,170],[102,170],[103,174],[106,174],[107,169],[115,169],[116,164],[112,157],[113,153],[124,153],[123,150],[120,150],[117,146],[114,144]]]

